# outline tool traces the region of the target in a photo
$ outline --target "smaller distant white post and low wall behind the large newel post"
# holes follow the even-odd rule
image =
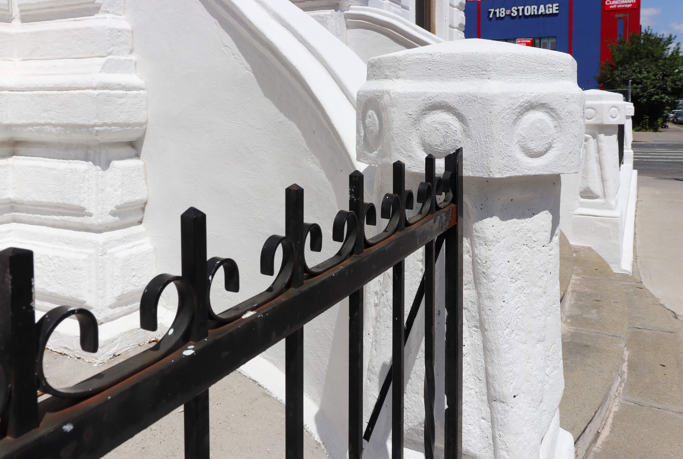
[[[561,228],[572,244],[593,247],[616,273],[631,273],[637,183],[633,105],[614,92],[589,89],[585,95],[583,166],[580,174],[562,177]],[[621,165],[619,125],[624,125]]]

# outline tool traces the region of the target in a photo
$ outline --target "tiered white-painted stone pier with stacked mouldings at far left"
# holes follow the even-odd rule
[[[101,324],[97,354],[75,320],[49,346],[102,361],[150,339],[135,314],[156,264],[133,31],[119,0],[17,0],[0,21],[0,247],[34,251],[38,311],[85,307]]]

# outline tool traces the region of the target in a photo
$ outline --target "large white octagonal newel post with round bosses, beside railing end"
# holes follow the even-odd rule
[[[459,40],[375,57],[367,74],[360,161],[418,173],[426,154],[464,148],[464,457],[573,458],[559,428],[558,225],[559,174],[582,160],[576,62]]]

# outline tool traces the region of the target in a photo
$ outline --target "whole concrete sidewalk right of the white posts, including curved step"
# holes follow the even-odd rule
[[[638,185],[632,276],[572,247],[560,421],[577,459],[683,457],[683,180]]]

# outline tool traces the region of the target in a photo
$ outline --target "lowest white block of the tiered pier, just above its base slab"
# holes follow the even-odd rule
[[[91,233],[7,223],[0,225],[0,249],[6,247],[34,252],[36,309],[85,307],[100,324],[137,311],[143,289],[156,275],[144,225]]]

